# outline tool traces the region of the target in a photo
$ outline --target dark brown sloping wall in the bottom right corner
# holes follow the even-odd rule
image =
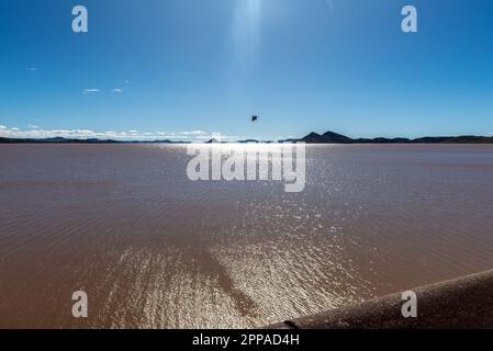
[[[272,325],[269,329],[490,329],[493,270],[411,290],[417,317],[404,318],[402,293]]]

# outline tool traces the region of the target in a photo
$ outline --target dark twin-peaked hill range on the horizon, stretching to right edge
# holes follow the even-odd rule
[[[359,138],[352,139],[341,134],[327,132],[325,134],[310,133],[299,141],[306,144],[493,144],[493,137],[485,136],[441,136],[441,137],[422,137],[416,139],[408,138],[383,138],[373,139]]]

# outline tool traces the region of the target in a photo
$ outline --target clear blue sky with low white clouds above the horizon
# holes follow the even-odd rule
[[[493,132],[491,0],[2,0],[0,43],[1,135]]]

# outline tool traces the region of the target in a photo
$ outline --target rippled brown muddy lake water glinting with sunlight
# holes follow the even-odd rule
[[[0,328],[258,327],[493,268],[493,146],[307,146],[301,193],[189,160],[0,145]]]

